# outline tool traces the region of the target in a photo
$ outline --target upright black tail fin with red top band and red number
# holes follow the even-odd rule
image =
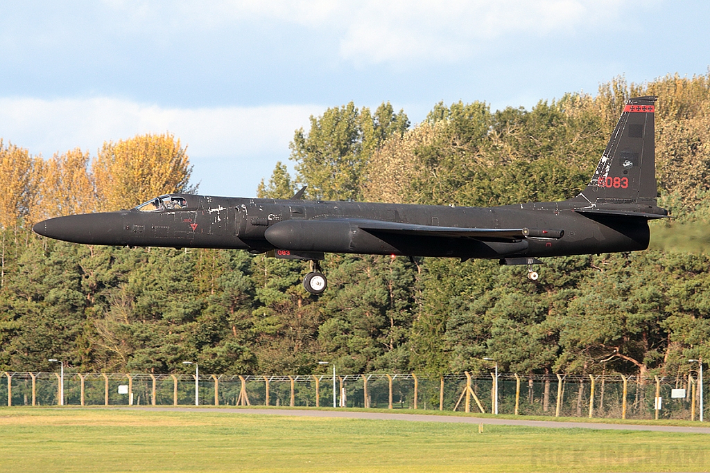
[[[591,182],[575,200],[655,206],[656,100],[645,96],[626,101]]]

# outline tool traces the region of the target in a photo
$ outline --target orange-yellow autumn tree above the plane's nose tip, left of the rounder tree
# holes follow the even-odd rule
[[[45,218],[97,210],[89,152],[79,148],[55,154],[38,169],[38,193],[29,209],[31,223]]]

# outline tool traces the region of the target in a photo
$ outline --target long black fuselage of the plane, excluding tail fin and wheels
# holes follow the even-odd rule
[[[52,238],[96,245],[202,247],[266,252],[502,258],[643,250],[647,218],[587,216],[570,201],[498,207],[294,201],[173,194],[186,208],[92,213],[50,219],[35,230]],[[626,211],[628,206],[624,206]],[[650,208],[638,208],[649,212]],[[661,210],[661,209],[659,209]],[[659,215],[660,216],[660,215]],[[451,228],[531,228],[539,237],[446,238],[363,230],[372,220]],[[546,231],[564,230],[561,238]]]

